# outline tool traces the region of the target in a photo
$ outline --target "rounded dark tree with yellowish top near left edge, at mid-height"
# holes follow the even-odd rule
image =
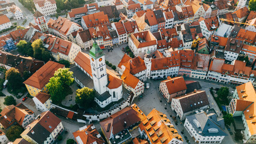
[[[20,76],[19,70],[16,68],[10,68],[5,72],[5,79],[8,80],[8,85],[12,89],[19,89],[23,85],[22,77]]]

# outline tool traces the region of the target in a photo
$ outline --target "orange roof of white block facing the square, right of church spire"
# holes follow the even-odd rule
[[[141,42],[137,40],[137,37],[141,38],[144,41]],[[154,35],[151,34],[150,31],[138,32],[136,34],[132,34],[130,35],[130,38],[132,39],[137,49],[141,47],[153,46],[156,44],[156,38],[154,38]]]

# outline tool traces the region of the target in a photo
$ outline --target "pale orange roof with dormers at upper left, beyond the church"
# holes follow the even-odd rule
[[[64,35],[66,35],[67,32],[69,32],[69,29],[71,28],[72,25],[77,25],[81,27],[77,23],[71,22],[69,19],[66,19],[60,16],[58,17],[57,20],[50,19],[47,25],[48,25],[48,28],[55,29],[56,31]]]

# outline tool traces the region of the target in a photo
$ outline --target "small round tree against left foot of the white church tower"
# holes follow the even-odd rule
[[[90,107],[91,103],[94,101],[95,92],[93,89],[84,87],[76,90],[76,103],[84,106]]]

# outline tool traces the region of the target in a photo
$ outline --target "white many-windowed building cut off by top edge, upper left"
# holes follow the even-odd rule
[[[53,15],[57,10],[55,0],[34,0],[35,8],[44,16]]]

